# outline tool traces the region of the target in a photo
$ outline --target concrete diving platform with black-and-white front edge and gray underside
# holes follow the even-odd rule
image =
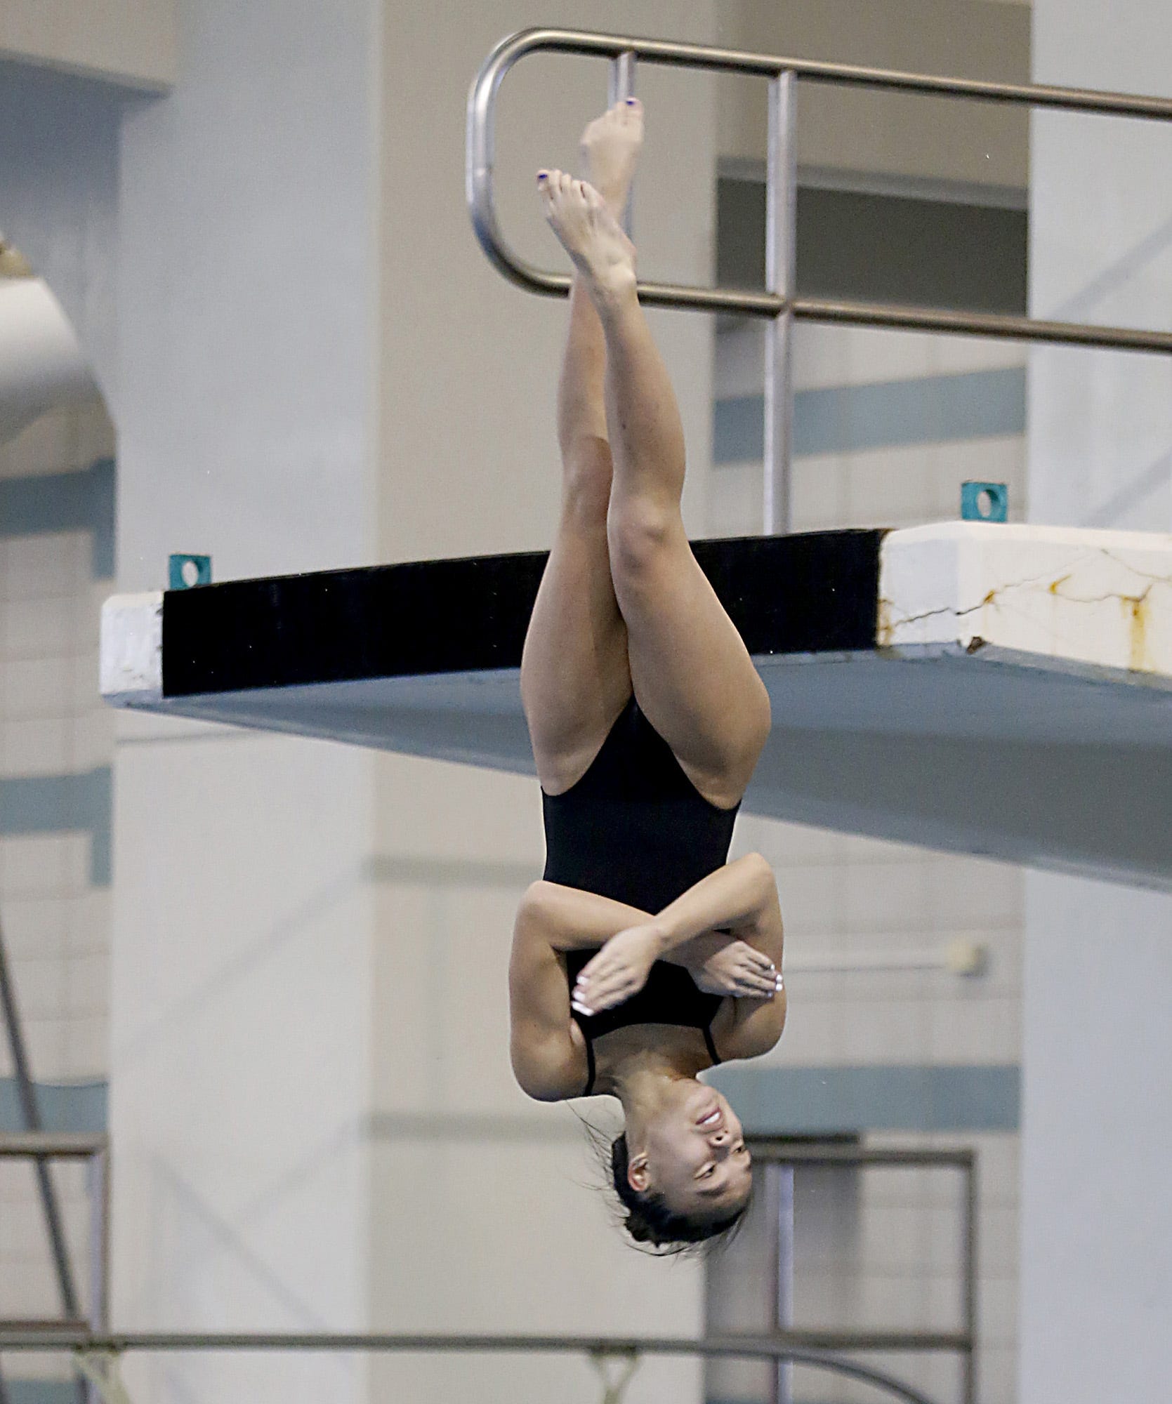
[[[1172,535],[696,542],[773,699],[749,813],[1172,890]],[[117,706],[530,771],[544,555],[118,595]]]

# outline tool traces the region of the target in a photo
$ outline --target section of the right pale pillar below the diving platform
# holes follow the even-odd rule
[[[1166,1389],[1169,980],[1168,897],[1029,876],[1022,1404]]]

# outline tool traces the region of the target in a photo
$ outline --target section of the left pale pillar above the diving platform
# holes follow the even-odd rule
[[[371,559],[375,14],[200,0],[122,132],[119,576]]]

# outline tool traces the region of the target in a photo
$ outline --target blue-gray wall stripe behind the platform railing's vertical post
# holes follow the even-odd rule
[[[1022,366],[916,380],[840,385],[794,396],[794,456],[866,453],[916,444],[954,444],[1026,431]],[[752,463],[764,453],[764,399],[717,400],[712,462]]]

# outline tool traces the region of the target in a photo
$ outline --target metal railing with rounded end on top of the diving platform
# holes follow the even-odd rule
[[[797,140],[795,84],[836,83],[897,93],[970,98],[982,102],[1044,107],[1100,117],[1172,121],[1172,100],[1099,93],[1092,88],[1026,83],[985,83],[849,63],[819,63],[738,49],[710,48],[631,35],[582,29],[531,28],[502,39],[472,83],[468,95],[467,197],[472,227],[492,264],[512,282],[547,296],[565,296],[571,278],[527,263],[504,241],[492,194],[496,97],[506,73],[528,53],[554,52],[607,58],[613,65],[611,94],[634,91],[638,62],[669,67],[697,67],[714,73],[746,73],[769,79],[769,159],[766,177],[766,289],[697,288],[683,284],[641,282],[639,299],[649,306],[701,312],[732,312],[769,317],[766,343],[764,493],[766,532],[788,531],[790,456],[793,442],[793,324],[847,323],[911,331],[943,331],[1001,340],[1081,345],[1116,351],[1172,352],[1172,333],[1093,323],[1043,322],[1008,313],[950,312],[895,303],[800,298],[795,286]],[[621,72],[620,72],[621,66]]]

